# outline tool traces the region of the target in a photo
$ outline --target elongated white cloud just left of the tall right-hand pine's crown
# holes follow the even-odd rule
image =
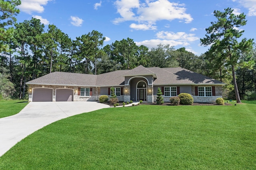
[[[156,36],[161,39],[176,40],[176,41],[196,41],[199,38],[194,36],[195,34],[187,34],[185,32],[168,32],[160,31],[156,33]]]

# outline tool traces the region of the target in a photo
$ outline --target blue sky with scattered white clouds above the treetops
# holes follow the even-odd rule
[[[256,0],[21,0],[17,22],[38,18],[56,25],[71,39],[92,30],[106,37],[104,45],[131,38],[149,49],[158,44],[185,47],[196,55],[209,47],[200,46],[205,28],[216,21],[214,10],[244,12],[247,24],[243,37],[256,39]]]

